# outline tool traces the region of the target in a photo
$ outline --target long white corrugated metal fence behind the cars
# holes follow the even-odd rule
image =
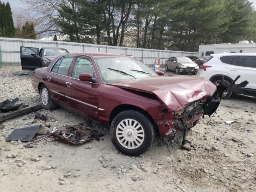
[[[192,56],[198,55],[197,52],[182,52],[182,51],[167,51],[156,49],[142,49],[130,47],[117,47],[96,44],[84,44],[63,41],[45,41],[45,40],[30,40],[16,38],[0,38],[0,46],[2,48],[3,64],[19,64],[20,63],[20,46],[25,47],[59,47],[65,48],[70,53],[79,52],[100,52],[113,54],[128,54],[143,60],[145,64],[154,63],[155,58],[160,59],[160,64],[164,64],[165,60],[171,56]],[[100,49],[99,49],[100,48]]]

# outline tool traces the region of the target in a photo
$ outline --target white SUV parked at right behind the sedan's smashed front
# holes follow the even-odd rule
[[[221,53],[212,54],[204,63],[200,77],[218,84],[221,76],[224,80],[232,82],[238,75],[241,77],[236,84],[247,80],[249,84],[242,88],[245,94],[256,96],[256,54],[255,53]],[[226,98],[232,95],[232,91],[226,90]]]

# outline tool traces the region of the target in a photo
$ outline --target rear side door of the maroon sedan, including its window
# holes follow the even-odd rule
[[[65,90],[68,89],[66,82],[74,56],[61,57],[51,68],[46,77],[46,86],[50,90],[51,98],[58,104],[68,104],[65,98]]]

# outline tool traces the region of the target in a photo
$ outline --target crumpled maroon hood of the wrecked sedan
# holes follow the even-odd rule
[[[109,85],[154,94],[170,111],[182,110],[189,103],[210,97],[216,91],[216,86],[209,80],[183,75],[151,76]]]

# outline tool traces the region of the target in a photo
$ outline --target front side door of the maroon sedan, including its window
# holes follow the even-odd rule
[[[98,83],[79,80],[82,73],[91,74],[96,78],[92,62],[89,58],[78,56],[74,63],[71,76],[66,82],[68,87],[65,97],[69,98],[68,105],[82,116],[98,119]]]

